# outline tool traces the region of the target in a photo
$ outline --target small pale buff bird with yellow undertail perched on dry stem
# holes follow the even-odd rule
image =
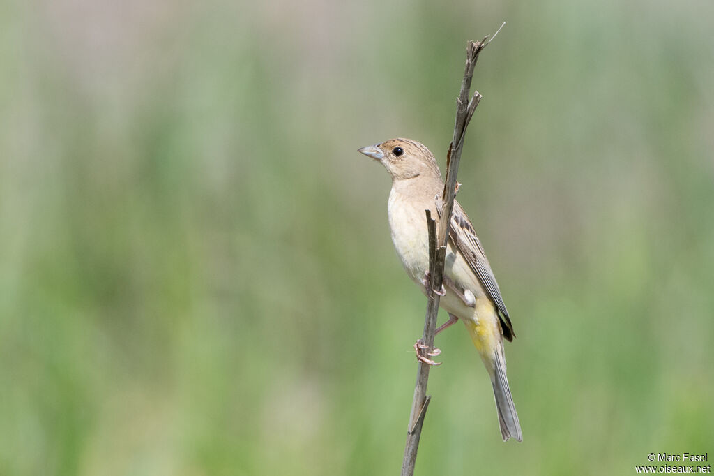
[[[428,289],[425,210],[437,217],[438,226],[444,189],[436,159],[423,144],[401,138],[362,147],[358,152],[380,162],[391,175],[387,211],[392,242],[408,276],[423,294],[428,295],[431,289]],[[503,339],[513,341],[516,334],[481,241],[457,201],[454,201],[449,222],[443,283],[443,288],[438,291],[442,295],[439,305],[448,312],[449,319],[436,329],[436,334],[457,321],[465,324],[491,377],[503,441],[513,438],[521,442],[521,423],[508,386],[503,350]],[[415,349],[418,360],[436,365],[423,355],[426,346],[420,341],[415,344]],[[438,352],[435,349],[429,355]]]

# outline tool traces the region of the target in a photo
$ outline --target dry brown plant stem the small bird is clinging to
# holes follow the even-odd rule
[[[501,25],[503,28],[503,25]],[[498,31],[501,31],[501,28]],[[498,34],[496,31],[496,34]],[[491,40],[496,36],[493,34]],[[451,222],[451,211],[453,201],[456,197],[456,175],[458,174],[458,164],[461,161],[461,150],[463,149],[463,138],[466,135],[466,127],[471,121],[473,111],[481,100],[481,94],[476,91],[471,101],[468,101],[468,94],[471,90],[471,79],[473,78],[473,68],[476,66],[478,54],[491,42],[486,36],[481,41],[469,41],[466,48],[466,69],[461,81],[461,92],[456,99],[456,122],[453,127],[453,140],[449,145],[446,156],[446,184],[444,185],[443,212],[439,220],[438,234],[436,233],[436,223],[431,218],[431,212],[426,210],[426,224],[429,233],[429,275],[431,277],[427,290],[428,302],[426,305],[426,317],[424,319],[424,332],[421,342],[428,346],[426,352],[432,352],[434,346],[434,333],[436,332],[436,317],[439,310],[439,294],[432,292],[433,289],[441,289],[443,284],[444,261],[446,259],[446,239],[448,236],[448,224]],[[416,454],[421,438],[426,409],[431,397],[426,395],[426,385],[429,378],[430,365],[418,362],[418,373],[416,385],[414,387],[414,397],[411,405],[411,415],[409,416],[409,427],[406,436],[406,446],[404,447],[404,459],[402,461],[402,476],[412,476],[414,465],[416,464]]]

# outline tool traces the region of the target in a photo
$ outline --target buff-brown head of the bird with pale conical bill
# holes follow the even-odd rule
[[[362,147],[358,152],[381,162],[393,181],[420,176],[441,180],[441,173],[433,154],[416,141],[389,139],[381,144]]]

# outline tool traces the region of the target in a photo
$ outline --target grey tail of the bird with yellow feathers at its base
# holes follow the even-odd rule
[[[488,320],[488,319],[486,319]],[[523,441],[521,433],[521,422],[518,422],[516,405],[513,405],[511,388],[508,387],[508,377],[506,377],[506,357],[503,354],[503,338],[501,329],[496,332],[488,332],[488,329],[480,328],[479,325],[470,319],[463,319],[468,333],[471,334],[473,344],[481,360],[486,365],[488,375],[491,377],[493,385],[493,396],[496,397],[496,410],[498,410],[498,423],[501,425],[501,436],[503,441],[514,438]],[[498,323],[495,322],[496,326]]]

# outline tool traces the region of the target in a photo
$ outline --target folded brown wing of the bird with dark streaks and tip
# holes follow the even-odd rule
[[[436,210],[440,217],[442,209],[441,197],[436,197]],[[449,239],[454,249],[457,249],[466,259],[468,267],[476,274],[483,289],[486,289],[486,295],[496,305],[501,319],[501,327],[503,328],[503,337],[506,337],[509,341],[513,340],[516,334],[513,332],[511,317],[508,316],[508,309],[506,309],[506,304],[503,302],[503,297],[501,297],[501,289],[498,289],[496,277],[493,276],[493,271],[491,271],[491,264],[488,263],[486,252],[483,251],[481,241],[476,236],[476,231],[466,216],[466,212],[463,211],[463,208],[456,200],[453,202],[453,212],[451,213],[451,223],[449,224]]]

